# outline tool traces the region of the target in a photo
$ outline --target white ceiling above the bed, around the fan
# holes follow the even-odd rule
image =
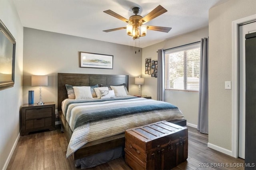
[[[102,30],[125,27],[127,23],[103,11],[112,10],[129,19],[132,8],[140,8],[144,17],[158,5],[168,12],[145,25],[172,27],[169,33],[148,30],[146,37],[136,40],[136,46],[147,47],[165,39],[194,31],[208,25],[208,10],[227,0],[14,0],[24,27],[74,35],[135,46],[126,30]]]

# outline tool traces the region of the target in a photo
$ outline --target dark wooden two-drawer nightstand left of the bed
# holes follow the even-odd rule
[[[21,136],[45,129],[55,130],[55,103],[45,102],[44,105],[22,105]]]

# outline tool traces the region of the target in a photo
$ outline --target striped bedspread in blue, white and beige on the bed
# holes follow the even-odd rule
[[[154,123],[184,119],[178,107],[134,96],[114,99],[87,99],[62,102],[62,112],[73,131],[66,157],[100,138],[124,133],[126,129]]]

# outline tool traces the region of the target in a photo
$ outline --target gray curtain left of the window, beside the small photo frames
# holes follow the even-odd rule
[[[158,70],[157,70],[157,100],[164,99],[164,49],[158,50]]]

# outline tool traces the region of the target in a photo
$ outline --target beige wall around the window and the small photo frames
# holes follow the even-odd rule
[[[152,96],[152,99],[156,100],[157,78],[145,74],[146,58],[157,60],[156,51],[158,51],[158,49],[178,47],[180,45],[200,41],[200,39],[204,37],[208,37],[208,27],[143,48],[142,76],[145,78],[145,83],[142,86],[142,95],[146,94],[147,96]],[[188,125],[196,127],[198,117],[198,92],[166,90],[165,94],[166,102],[178,106],[187,119]]]

